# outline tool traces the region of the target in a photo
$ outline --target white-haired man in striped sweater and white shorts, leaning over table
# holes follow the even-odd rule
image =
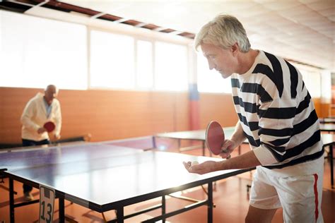
[[[247,138],[252,150],[220,162],[192,165],[190,173],[256,167],[246,222],[323,222],[324,149],[310,94],[297,68],[280,56],[250,48],[237,18],[220,15],[204,25],[194,45],[223,78],[231,78],[239,117],[222,145],[226,158]],[[229,208],[228,208],[229,209]]]

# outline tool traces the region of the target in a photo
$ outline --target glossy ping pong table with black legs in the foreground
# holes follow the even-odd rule
[[[213,222],[213,181],[235,176],[249,169],[189,174],[183,161],[221,160],[173,152],[143,151],[112,143],[86,143],[47,148],[29,148],[0,152],[0,171],[9,178],[10,220],[14,210],[13,181],[35,188],[53,188],[59,198],[59,222],[64,222],[64,200],[90,210],[116,210],[117,217],[109,222],[124,222],[150,210],[161,209],[161,215],[146,220],[156,222],[201,205],[208,206],[208,222]],[[166,212],[165,196],[177,191],[207,184],[206,200],[199,200],[180,210]],[[160,205],[124,215],[124,207],[153,198]],[[29,207],[29,206],[28,206]]]

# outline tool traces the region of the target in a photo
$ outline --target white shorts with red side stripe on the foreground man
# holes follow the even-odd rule
[[[323,222],[323,168],[315,174],[278,177],[257,167],[249,205],[259,209],[283,207],[284,222]]]

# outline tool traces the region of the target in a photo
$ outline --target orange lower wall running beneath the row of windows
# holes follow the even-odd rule
[[[20,143],[20,115],[41,89],[0,88],[0,143]],[[60,90],[62,138],[90,133],[91,140],[115,140],[187,131],[190,127],[187,92],[122,90]],[[320,117],[327,106],[313,99]],[[328,110],[328,109],[327,109]],[[237,115],[228,94],[199,95],[200,128],[211,120],[235,126]]]

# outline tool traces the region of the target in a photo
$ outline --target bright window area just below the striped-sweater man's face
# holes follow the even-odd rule
[[[207,59],[199,52],[197,58],[197,80],[199,92],[231,93],[230,78],[223,78],[218,71],[209,70]]]

